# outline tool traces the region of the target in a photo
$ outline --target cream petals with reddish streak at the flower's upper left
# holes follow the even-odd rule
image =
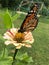
[[[18,31],[17,28],[11,28],[10,30],[8,30],[8,31],[4,34],[3,38],[4,38],[4,39],[7,39],[7,40],[12,40],[12,39],[14,38],[14,36],[15,36],[15,34],[16,34],[17,31]]]

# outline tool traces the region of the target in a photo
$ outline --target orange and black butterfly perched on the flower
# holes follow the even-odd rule
[[[38,24],[37,11],[38,5],[34,4],[31,10],[28,12],[18,32],[25,32],[29,30],[34,30],[36,28]]]

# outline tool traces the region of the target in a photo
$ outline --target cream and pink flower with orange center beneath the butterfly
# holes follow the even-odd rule
[[[31,44],[34,42],[34,38],[30,31],[28,32],[18,32],[17,28],[11,28],[3,36],[6,39],[5,44],[13,44],[16,49],[20,49],[22,46],[31,47]]]

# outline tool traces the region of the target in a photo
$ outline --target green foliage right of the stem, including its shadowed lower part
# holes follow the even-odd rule
[[[14,61],[14,65],[28,65],[32,63],[32,57],[30,57],[27,52],[21,53],[16,56],[16,60]]]

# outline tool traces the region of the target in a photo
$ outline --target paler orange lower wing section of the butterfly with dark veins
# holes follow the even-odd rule
[[[31,20],[29,21],[29,23],[27,23],[27,24],[23,27],[23,29],[25,29],[26,31],[28,31],[28,30],[34,30],[34,29],[36,28],[36,26],[37,26],[37,23],[38,23],[37,21],[38,21],[37,18],[31,19]]]

